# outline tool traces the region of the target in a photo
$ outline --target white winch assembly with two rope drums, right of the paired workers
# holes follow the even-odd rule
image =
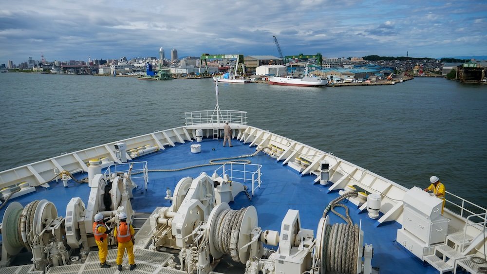
[[[170,199],[173,204],[150,216],[153,234],[146,246],[179,249],[179,268],[187,273],[210,273],[225,255],[245,264],[246,274],[372,273],[372,245],[363,246],[358,225],[330,225],[324,213],[315,238],[312,229],[301,228],[299,211],[288,210],[280,232],[264,230],[254,206],[230,209],[227,202],[238,190],[228,192],[227,179],[204,172],[181,179]],[[233,182],[233,187],[238,184]],[[271,251],[264,245],[278,248]]]

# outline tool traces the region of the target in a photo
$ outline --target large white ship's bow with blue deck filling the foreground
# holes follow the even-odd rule
[[[134,273],[487,267],[487,209],[447,192],[442,213],[422,189],[253,127],[245,111],[220,110],[218,86],[216,96],[213,110],[186,112],[180,127],[1,171],[0,273],[121,273],[111,236],[112,267],[100,269],[93,221],[100,213],[114,227],[122,212],[136,228]]]

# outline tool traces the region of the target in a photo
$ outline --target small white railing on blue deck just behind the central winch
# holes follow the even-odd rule
[[[215,169],[215,173],[218,176],[223,177],[228,175],[230,180],[239,183],[252,183],[252,196],[254,196],[254,191],[261,187],[261,167],[262,164],[245,164],[245,163],[235,163],[228,162]]]

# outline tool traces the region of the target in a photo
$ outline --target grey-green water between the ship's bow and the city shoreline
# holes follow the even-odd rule
[[[415,78],[393,86],[219,84],[222,110],[369,169],[487,207],[487,86]],[[0,170],[155,130],[213,110],[211,79],[0,73]]]

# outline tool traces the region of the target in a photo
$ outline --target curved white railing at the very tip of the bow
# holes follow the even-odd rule
[[[247,125],[247,112],[239,110],[200,110],[185,112],[186,126],[224,123]],[[220,116],[220,117],[219,117]]]

